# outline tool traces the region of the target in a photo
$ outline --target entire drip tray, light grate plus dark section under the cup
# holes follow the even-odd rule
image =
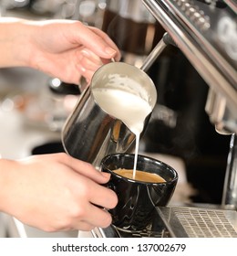
[[[96,238],[237,238],[237,211],[199,207],[160,207],[150,225],[139,232],[110,226],[94,229]]]

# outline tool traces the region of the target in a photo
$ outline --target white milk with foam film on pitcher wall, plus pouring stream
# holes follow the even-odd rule
[[[139,153],[139,136],[152,107],[149,104],[148,92],[137,81],[118,74],[112,76],[103,88],[93,89],[93,95],[101,109],[125,123],[129,130],[136,135],[134,179]]]

